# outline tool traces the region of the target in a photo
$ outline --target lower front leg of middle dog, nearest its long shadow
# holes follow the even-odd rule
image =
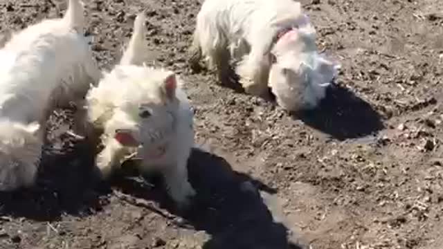
[[[190,198],[195,196],[195,190],[188,181],[188,168],[186,166],[187,161],[183,160],[165,167],[162,171],[171,198],[181,208],[186,208],[190,204]]]

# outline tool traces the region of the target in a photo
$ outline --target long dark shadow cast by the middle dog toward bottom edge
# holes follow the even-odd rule
[[[287,239],[288,229],[273,221],[264,204],[258,190],[274,194],[271,187],[235,172],[224,158],[199,149],[193,149],[188,169],[197,196],[186,212],[175,209],[165,192],[156,187],[146,191],[127,178],[114,185],[136,198],[161,203],[161,208],[181,216],[195,230],[206,231],[211,239],[202,248],[302,248]]]

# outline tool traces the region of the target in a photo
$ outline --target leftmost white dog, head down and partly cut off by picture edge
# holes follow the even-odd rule
[[[44,124],[53,104],[82,98],[100,79],[83,36],[83,6],[29,26],[0,50],[0,190],[35,182]]]

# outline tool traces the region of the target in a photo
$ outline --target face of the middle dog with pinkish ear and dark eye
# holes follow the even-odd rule
[[[142,145],[152,158],[162,156],[176,129],[176,75],[145,66],[119,66],[115,75],[127,87],[114,113],[120,122],[114,138],[123,146]]]

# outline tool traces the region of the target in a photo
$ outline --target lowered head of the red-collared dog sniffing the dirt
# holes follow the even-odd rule
[[[316,107],[336,77],[337,65],[317,53],[309,22],[282,35],[271,57],[269,86],[278,104],[289,111]]]

